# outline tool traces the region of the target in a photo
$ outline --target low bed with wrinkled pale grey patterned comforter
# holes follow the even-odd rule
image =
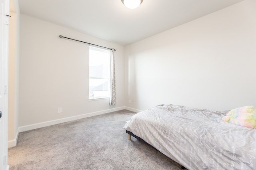
[[[159,105],[124,129],[189,170],[255,170],[256,129],[223,121],[230,112]]]

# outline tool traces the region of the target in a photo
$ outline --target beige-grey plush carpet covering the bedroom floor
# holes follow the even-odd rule
[[[22,132],[10,170],[178,170],[181,166],[123,129],[128,110]]]

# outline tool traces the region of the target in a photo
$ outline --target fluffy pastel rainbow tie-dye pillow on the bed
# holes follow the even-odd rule
[[[256,107],[244,106],[232,109],[222,118],[222,120],[254,129],[256,128]]]

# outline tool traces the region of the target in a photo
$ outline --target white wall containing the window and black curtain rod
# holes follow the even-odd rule
[[[88,102],[88,45],[59,35],[116,49],[115,106]],[[123,97],[123,46],[21,14],[20,127],[123,107]]]

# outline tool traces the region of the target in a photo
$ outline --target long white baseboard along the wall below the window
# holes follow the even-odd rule
[[[91,116],[96,116],[96,115],[102,115],[102,114],[105,114],[105,113],[110,113],[112,111],[119,111],[119,110],[123,110],[123,109],[125,109],[125,107],[117,107],[117,108],[114,108],[114,109],[96,111],[96,112],[92,112],[92,113],[86,113],[86,114],[83,114],[83,115],[77,115],[77,116],[72,116],[72,117],[66,117],[66,118],[63,118],[63,119],[57,119],[57,120],[46,121],[46,122],[42,122],[42,123],[36,123],[36,124],[32,124],[32,125],[21,126],[21,127],[19,127],[19,130],[20,130],[20,132],[29,131],[29,130],[38,129],[38,128],[41,128],[41,127],[56,125],[56,124],[59,124],[59,123],[65,123],[65,122],[68,122],[68,121],[74,121],[74,120],[83,119],[83,118],[86,118],[86,117],[91,117]]]

